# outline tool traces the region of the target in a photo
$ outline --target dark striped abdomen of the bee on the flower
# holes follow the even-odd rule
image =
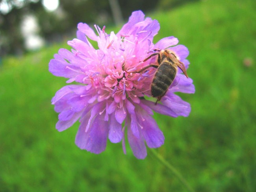
[[[160,100],[170,85],[173,83],[176,73],[177,69],[171,65],[171,63],[161,63],[151,84],[152,96],[158,97],[158,100]]]

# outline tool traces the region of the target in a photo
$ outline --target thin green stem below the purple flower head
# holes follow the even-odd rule
[[[182,184],[184,186],[186,186],[187,190],[189,192],[195,192],[193,190],[193,188],[189,185],[189,183],[187,183],[186,179],[180,174],[180,172],[178,172],[178,170],[176,170],[174,168],[174,166],[172,166],[169,162],[167,162],[165,159],[163,159],[163,157],[161,155],[159,155],[154,149],[149,148],[150,151],[152,152],[152,154],[154,155],[154,157],[156,157],[156,159],[158,159],[158,161],[160,161],[165,167],[167,167],[171,172],[173,172],[173,174],[178,177],[178,179],[182,182]]]

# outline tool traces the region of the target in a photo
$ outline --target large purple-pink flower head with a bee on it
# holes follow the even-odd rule
[[[144,96],[151,96],[150,85],[156,69],[129,72],[154,63],[156,57],[142,61],[156,48],[169,47],[186,68],[189,65],[186,60],[189,52],[185,46],[176,45],[175,37],[152,43],[160,25],[157,20],[144,17],[141,11],[133,12],[117,34],[107,34],[105,27],[100,29],[96,25],[95,33],[87,24],[79,23],[77,39],[68,41],[73,48],[71,52],[60,49],[49,63],[52,74],[68,78],[67,83],[77,82],[58,90],[52,104],[59,113],[58,131],[79,120],[75,142],[81,149],[101,153],[109,138],[113,143],[122,141],[126,153],[128,138],[135,157],[144,159],[147,156],[145,142],[150,148],[158,148],[164,142],[163,133],[152,118],[152,110],[172,117],[190,113],[189,103],[174,94],[195,92],[192,80],[181,71],[161,99],[162,104],[157,105],[144,99]],[[92,41],[97,42],[98,48],[93,47]]]

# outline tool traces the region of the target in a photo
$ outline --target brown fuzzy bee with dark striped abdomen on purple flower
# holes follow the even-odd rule
[[[178,68],[182,70],[184,75],[188,78],[186,68],[184,63],[182,63],[174,52],[166,49],[166,50],[154,50],[158,51],[149,55],[143,62],[147,61],[151,57],[158,55],[155,63],[152,63],[148,66],[145,66],[136,73],[141,73],[149,67],[157,68],[154,78],[151,83],[151,94],[153,97],[157,98],[156,103],[161,100],[161,98],[165,95],[173,80],[177,74]]]

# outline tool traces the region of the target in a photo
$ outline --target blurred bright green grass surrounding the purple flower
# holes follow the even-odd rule
[[[190,51],[195,94],[189,117],[155,114],[165,135],[157,151],[197,192],[256,190],[256,2],[207,0],[147,15],[160,22],[159,39],[174,35]],[[86,22],[86,21],[85,21]],[[186,188],[148,151],[137,160],[108,142],[99,155],[74,144],[76,123],[59,133],[50,105],[64,78],[48,62],[65,44],[0,68],[0,191],[173,191]],[[251,66],[244,65],[250,58]],[[161,123],[160,123],[161,122]]]

